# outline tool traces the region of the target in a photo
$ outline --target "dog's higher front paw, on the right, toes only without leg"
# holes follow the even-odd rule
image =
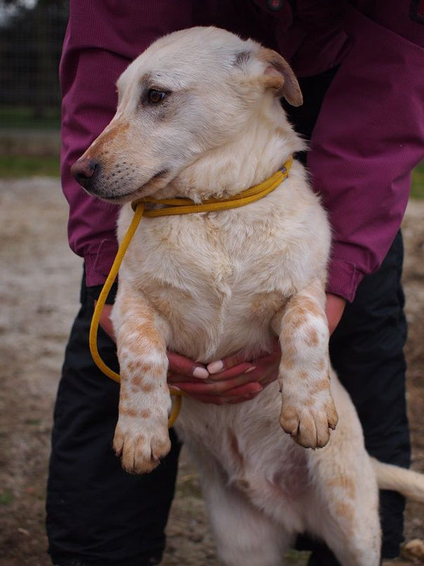
[[[283,398],[280,424],[284,432],[304,448],[323,448],[330,439],[329,429],[335,429],[338,421],[331,393],[324,400],[302,404],[293,398]]]

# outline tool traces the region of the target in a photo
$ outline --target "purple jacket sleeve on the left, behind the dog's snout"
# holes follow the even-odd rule
[[[90,197],[70,167],[116,108],[115,82],[131,59],[160,35],[189,27],[189,2],[71,0],[59,68],[62,91],[61,179],[69,202],[69,244],[84,258],[86,284],[105,282],[117,251],[118,207]]]

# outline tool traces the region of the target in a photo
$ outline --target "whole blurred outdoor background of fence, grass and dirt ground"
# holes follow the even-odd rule
[[[59,180],[57,74],[67,15],[66,0],[0,0],[1,566],[50,564],[44,521],[52,411],[82,273],[66,239]],[[423,165],[413,172],[403,229],[413,467],[424,471]],[[163,565],[218,565],[199,479],[184,454],[167,531]],[[424,506],[409,504],[406,537],[423,536]],[[412,564],[407,555],[396,564]],[[288,557],[295,566],[306,560],[306,553]]]

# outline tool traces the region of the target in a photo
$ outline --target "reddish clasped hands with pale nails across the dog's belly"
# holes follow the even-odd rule
[[[271,354],[245,362],[242,352],[203,366],[179,354],[168,352],[170,387],[184,391],[203,403],[242,403],[253,399],[278,376],[281,350],[273,342]]]

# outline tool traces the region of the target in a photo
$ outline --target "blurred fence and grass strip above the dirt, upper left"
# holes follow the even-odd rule
[[[10,176],[57,175],[67,20],[66,0],[0,0],[1,171]]]

